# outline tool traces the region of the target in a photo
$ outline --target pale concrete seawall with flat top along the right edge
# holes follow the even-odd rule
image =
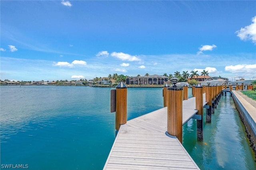
[[[232,91],[232,97],[238,111],[244,119],[245,126],[248,128],[253,138],[253,143],[256,145],[256,108],[242,98],[236,91]]]

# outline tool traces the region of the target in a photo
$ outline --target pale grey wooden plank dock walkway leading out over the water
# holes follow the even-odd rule
[[[206,105],[203,94],[203,105]],[[195,97],[183,101],[182,124],[197,112]],[[121,125],[104,170],[199,169],[176,137],[168,135],[167,107]]]

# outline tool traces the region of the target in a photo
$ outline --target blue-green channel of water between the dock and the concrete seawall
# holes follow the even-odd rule
[[[244,132],[234,100],[222,96],[212,114],[212,123],[206,123],[204,109],[204,140],[196,139],[196,120],[183,126],[183,145],[202,170],[256,170],[254,152]]]

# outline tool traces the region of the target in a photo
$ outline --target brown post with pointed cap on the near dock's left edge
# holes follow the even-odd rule
[[[127,87],[123,82],[116,86],[116,131],[127,121]],[[117,132],[116,132],[117,134]]]

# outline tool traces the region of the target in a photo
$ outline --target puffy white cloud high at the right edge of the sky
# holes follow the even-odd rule
[[[251,25],[247,25],[244,28],[236,31],[235,33],[237,33],[237,36],[241,40],[252,40],[252,42],[256,44],[256,16],[252,18]]]

